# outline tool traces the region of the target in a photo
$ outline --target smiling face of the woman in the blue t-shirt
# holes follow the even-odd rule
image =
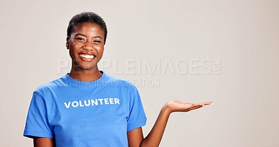
[[[104,31],[98,24],[84,22],[75,26],[67,38],[66,46],[75,70],[98,70],[97,63],[103,56]]]

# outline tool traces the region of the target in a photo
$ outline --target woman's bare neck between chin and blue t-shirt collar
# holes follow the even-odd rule
[[[92,68],[89,70],[82,70],[72,67],[69,76],[73,79],[77,79],[78,81],[92,82],[102,77],[102,73],[100,72],[100,70],[98,70],[97,67],[96,69]]]

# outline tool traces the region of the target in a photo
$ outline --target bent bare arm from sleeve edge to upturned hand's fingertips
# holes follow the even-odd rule
[[[134,146],[159,146],[163,137],[169,115],[174,111],[191,111],[204,105],[211,105],[212,102],[203,102],[199,104],[183,103],[178,100],[167,102],[160,111],[160,114],[153,125],[149,134],[143,139],[142,128],[137,128],[128,132],[128,142],[130,147]]]

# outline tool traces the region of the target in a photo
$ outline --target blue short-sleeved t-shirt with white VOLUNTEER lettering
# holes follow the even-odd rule
[[[33,92],[25,137],[55,138],[56,146],[128,146],[127,132],[146,116],[137,88],[103,72],[93,82],[68,74]]]

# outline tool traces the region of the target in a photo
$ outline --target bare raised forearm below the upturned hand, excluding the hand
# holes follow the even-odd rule
[[[159,146],[160,141],[163,137],[165,127],[167,125],[167,121],[169,119],[169,115],[171,112],[167,108],[167,105],[165,105],[161,111],[160,114],[158,115],[158,118],[156,120],[156,123],[153,125],[151,131],[149,134],[142,140],[141,146],[148,146],[148,147],[153,147],[153,146]]]

